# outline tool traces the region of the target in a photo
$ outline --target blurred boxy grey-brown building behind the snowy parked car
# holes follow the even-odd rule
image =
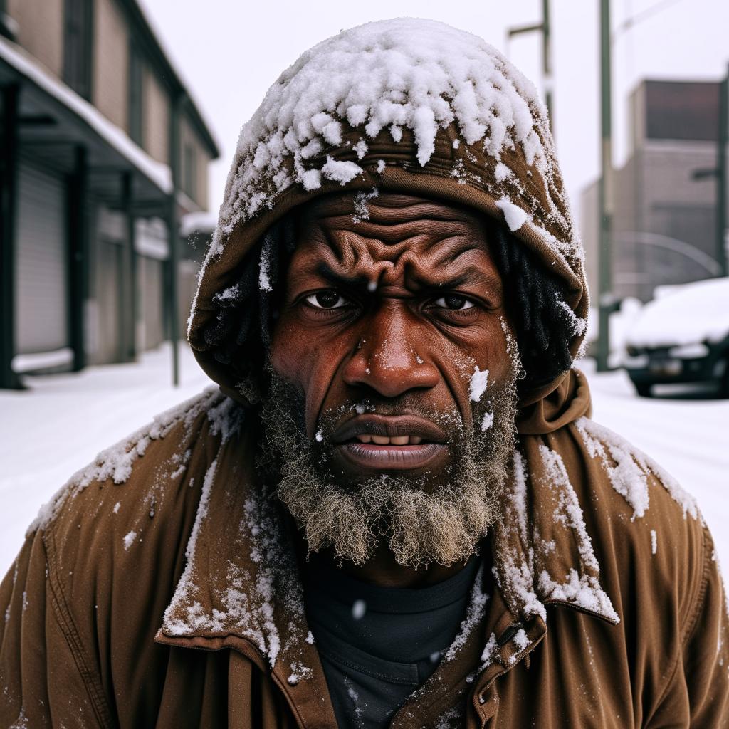
[[[612,291],[652,298],[656,286],[720,275],[716,195],[720,83],[643,81],[631,94],[631,147],[615,171]],[[703,174],[698,174],[701,173]],[[598,291],[598,182],[581,194],[588,284]]]

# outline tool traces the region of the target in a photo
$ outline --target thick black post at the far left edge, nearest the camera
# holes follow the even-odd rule
[[[0,139],[0,387],[20,388],[15,356],[15,245],[17,237],[17,147],[20,87],[2,89]]]

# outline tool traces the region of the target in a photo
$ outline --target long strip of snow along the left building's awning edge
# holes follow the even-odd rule
[[[144,149],[135,144],[117,125],[112,124],[104,114],[81,98],[69,86],[52,76],[25,50],[0,37],[0,58],[16,71],[31,79],[38,87],[51,95],[63,106],[78,114],[101,139],[133,164],[144,176],[163,192],[172,192],[172,174],[168,165],[157,162]]]

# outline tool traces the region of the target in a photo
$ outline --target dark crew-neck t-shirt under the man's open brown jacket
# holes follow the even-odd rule
[[[381,588],[310,563],[306,617],[340,727],[380,729],[456,637],[480,560],[421,589]]]

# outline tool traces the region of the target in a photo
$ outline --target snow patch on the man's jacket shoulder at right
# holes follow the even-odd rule
[[[589,455],[599,460],[609,477],[612,488],[623,496],[633,510],[633,518],[642,518],[648,509],[650,496],[648,477],[653,475],[682,508],[684,517],[699,516],[695,499],[655,461],[628,443],[609,428],[590,418],[580,418],[574,425],[582,436]]]

